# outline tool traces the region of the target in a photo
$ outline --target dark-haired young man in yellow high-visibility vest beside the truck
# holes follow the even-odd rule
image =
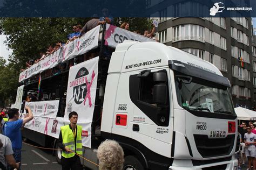
[[[83,169],[77,154],[82,155],[82,126],[77,125],[78,114],[69,113],[69,125],[60,128],[58,146],[62,148],[62,169]]]

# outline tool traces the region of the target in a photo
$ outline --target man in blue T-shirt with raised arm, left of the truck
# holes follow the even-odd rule
[[[16,162],[21,162],[22,148],[22,133],[21,128],[26,123],[33,119],[33,114],[29,106],[25,109],[28,111],[28,116],[24,119],[19,119],[19,110],[16,108],[9,109],[9,121],[3,125],[3,134],[11,139],[12,150],[14,151],[14,159]],[[21,169],[21,166],[19,167]]]

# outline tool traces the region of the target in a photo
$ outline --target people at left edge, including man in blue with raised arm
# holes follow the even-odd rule
[[[18,109],[4,110],[0,116],[0,169],[21,169],[21,149],[22,149],[22,133],[23,126],[33,119],[30,107],[25,109],[28,114],[23,119],[20,118]],[[7,120],[3,120],[8,117]]]

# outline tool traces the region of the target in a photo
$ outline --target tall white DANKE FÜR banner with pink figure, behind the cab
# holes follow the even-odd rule
[[[99,57],[72,66],[66,95],[65,119],[76,111],[78,122],[83,122],[83,145],[91,147],[91,122],[95,108]]]

